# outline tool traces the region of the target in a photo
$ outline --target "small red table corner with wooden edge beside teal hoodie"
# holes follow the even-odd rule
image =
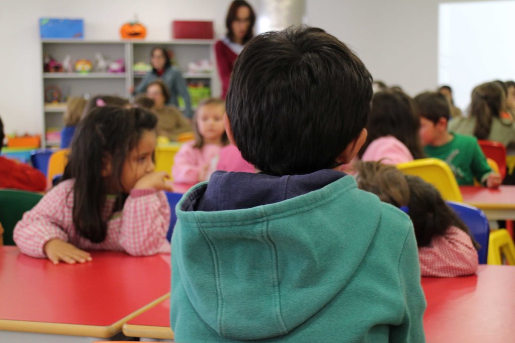
[[[170,299],[140,314],[124,324],[123,333],[129,337],[174,339],[170,328]]]

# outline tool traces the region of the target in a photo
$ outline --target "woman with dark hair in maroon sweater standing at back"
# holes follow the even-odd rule
[[[231,79],[234,61],[245,43],[254,37],[255,14],[245,0],[234,0],[226,17],[227,35],[216,42],[215,54],[218,75],[222,83],[221,98],[225,99]]]

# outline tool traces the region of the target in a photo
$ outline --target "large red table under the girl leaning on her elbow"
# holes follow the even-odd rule
[[[10,331],[112,337],[168,296],[169,255],[91,254],[89,263],[54,265],[0,247],[0,341]]]

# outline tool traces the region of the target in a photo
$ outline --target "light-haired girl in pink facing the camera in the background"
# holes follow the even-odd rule
[[[195,140],[185,142],[175,155],[171,173],[174,182],[196,184],[209,179],[216,170],[221,147],[229,139],[224,129],[224,101],[208,99],[202,101],[193,117]]]

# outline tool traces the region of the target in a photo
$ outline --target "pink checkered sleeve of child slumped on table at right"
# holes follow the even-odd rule
[[[418,250],[422,276],[454,277],[474,274],[477,270],[477,251],[472,240],[455,226]]]

